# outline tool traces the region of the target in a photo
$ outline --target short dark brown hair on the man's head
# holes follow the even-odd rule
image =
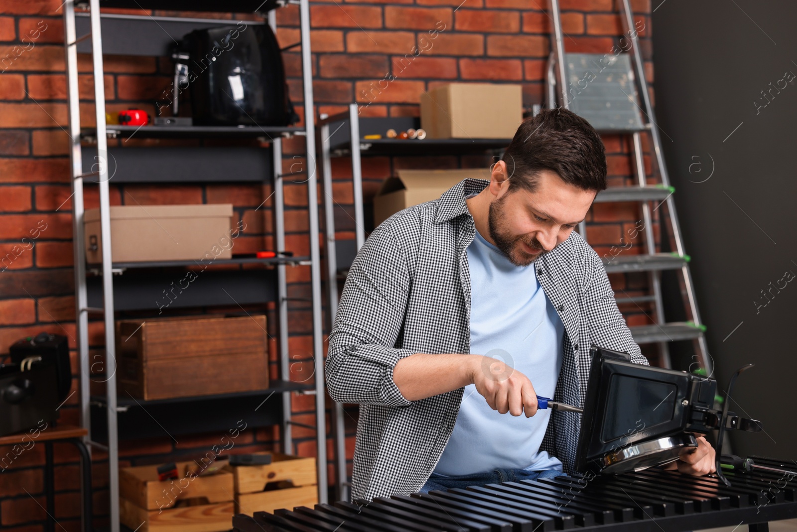
[[[509,190],[533,192],[540,170],[556,172],[585,191],[606,188],[603,141],[587,120],[564,108],[542,109],[524,120],[501,160],[506,162]]]

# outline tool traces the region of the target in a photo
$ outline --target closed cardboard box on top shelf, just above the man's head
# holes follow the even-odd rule
[[[450,83],[421,94],[430,139],[511,139],[522,121],[520,85]]]

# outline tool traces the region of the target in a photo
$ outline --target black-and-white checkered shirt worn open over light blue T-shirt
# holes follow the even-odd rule
[[[329,336],[329,395],[359,404],[351,499],[409,494],[429,479],[453,431],[465,388],[406,400],[393,368],[414,353],[470,353],[470,274],[476,227],[465,197],[489,182],[465,179],[440,199],[392,215],[351,265]],[[533,263],[564,324],[553,399],[583,406],[592,344],[648,364],[614,301],[603,262],[573,231]],[[533,324],[530,324],[533,326]],[[540,448],[573,471],[580,416],[553,411]]]

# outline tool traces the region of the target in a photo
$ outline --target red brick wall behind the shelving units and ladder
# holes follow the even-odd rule
[[[618,17],[611,11],[613,0],[562,0],[563,30],[568,51],[611,53],[622,35]],[[632,2],[645,24],[640,32],[647,62],[646,77],[652,81],[650,65],[650,2]],[[0,256],[14,259],[0,266],[0,353],[20,337],[46,330],[76,337],[73,302],[72,223],[69,195],[69,163],[66,157],[67,125],[65,100],[63,28],[59,0],[11,2],[0,0]],[[542,10],[546,2],[534,0],[391,0],[391,2],[312,2],[313,89],[317,112],[334,113],[357,101],[367,107],[367,116],[418,116],[418,95],[424,89],[449,81],[496,81],[523,85],[524,106],[539,104],[544,97],[544,73],[550,46],[551,22]],[[171,14],[158,12],[155,14]],[[203,14],[202,16],[208,16]],[[227,17],[226,15],[219,15]],[[241,18],[241,17],[238,17]],[[281,45],[299,41],[298,10],[289,6],[277,11]],[[430,30],[437,29],[434,39]],[[31,33],[33,32],[33,33]],[[35,37],[34,37],[35,36]],[[431,44],[429,44],[431,43]],[[413,47],[422,49],[409,65],[402,63]],[[16,47],[16,48],[15,48]],[[298,49],[285,53],[291,97],[303,116]],[[12,54],[6,56],[6,54]],[[82,124],[93,123],[92,74],[88,57],[80,56]],[[166,58],[104,57],[108,111],[128,107],[152,111],[151,101],[171,83],[171,62]],[[374,91],[375,84],[391,73],[387,89]],[[374,85],[372,85],[374,84]],[[159,141],[131,140],[128,144],[149,145]],[[302,152],[302,140],[285,142],[285,170],[292,154]],[[605,137],[611,184],[628,181],[631,175],[629,146],[618,137]],[[483,155],[440,157],[367,157],[363,159],[365,199],[371,201],[382,179],[402,167],[478,167],[490,160]],[[650,165],[648,165],[650,166]],[[351,214],[352,193],[349,160],[333,160],[333,196]],[[295,168],[294,168],[295,169]],[[649,169],[650,171],[650,169]],[[234,203],[236,218],[247,229],[236,242],[237,250],[272,249],[271,202],[255,211],[271,194],[260,185],[181,185],[112,187],[112,204],[133,203]],[[320,196],[323,198],[323,196]],[[287,247],[299,254],[308,252],[306,187],[285,187]],[[96,207],[96,189],[88,187],[86,207]],[[353,238],[353,222],[339,215],[338,238]],[[589,239],[607,254],[641,219],[630,205],[599,205],[592,211]],[[42,225],[45,224],[45,225]],[[22,238],[40,231],[32,249]],[[626,237],[627,238],[627,237]],[[638,239],[635,243],[641,243]],[[14,247],[22,246],[22,247]],[[625,253],[638,253],[632,246]],[[22,252],[20,250],[22,249]],[[307,267],[289,268],[290,295],[308,294]],[[642,294],[643,276],[612,275],[616,290]],[[622,295],[622,293],[620,294]],[[221,309],[224,310],[224,309]],[[633,309],[628,309],[633,310]],[[650,309],[646,308],[650,313]],[[273,318],[273,312],[269,312]],[[274,320],[269,333],[274,333]],[[630,325],[646,323],[642,312],[630,312]],[[306,304],[292,305],[290,339],[292,353],[301,364],[292,370],[304,378],[312,372],[306,362],[311,349],[310,313]],[[104,331],[101,321],[89,327],[93,354],[101,354]],[[70,347],[75,348],[70,340]],[[272,345],[272,359],[276,352]],[[73,353],[73,368],[77,361]],[[299,371],[301,373],[298,373]],[[277,376],[273,364],[272,376]],[[77,380],[73,389],[77,388]],[[62,408],[62,420],[77,424],[77,394]],[[294,402],[296,420],[314,424],[312,396]],[[347,417],[347,449],[351,461],[354,418]],[[199,430],[199,428],[198,428]],[[202,455],[220,435],[183,436],[176,445],[162,439],[123,442],[120,462],[152,463],[177,455]],[[295,449],[300,455],[315,455],[314,433],[294,429]],[[272,449],[277,428],[259,428],[242,433],[236,450]],[[0,449],[2,455],[8,449]],[[328,446],[332,456],[332,446]],[[56,518],[66,530],[77,530],[79,515],[78,459],[66,445],[56,445]],[[45,518],[39,503],[43,496],[43,446],[37,445],[0,472],[0,530],[42,530]],[[108,515],[108,464],[104,453],[94,452],[95,511],[98,523]],[[332,470],[330,470],[332,478]],[[35,499],[35,500],[34,500]],[[107,519],[107,518],[105,518]]]

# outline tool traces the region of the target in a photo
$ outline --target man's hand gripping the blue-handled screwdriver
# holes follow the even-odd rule
[[[469,371],[470,381],[487,400],[490,408],[512,416],[534,416],[537,396],[532,381],[523,373],[491,357],[474,357]]]

